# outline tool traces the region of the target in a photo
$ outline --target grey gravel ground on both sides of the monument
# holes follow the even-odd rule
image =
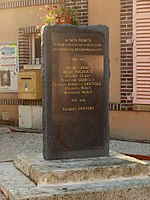
[[[0,162],[14,160],[19,153],[42,152],[41,133],[14,132],[0,127]],[[111,140],[110,150],[121,153],[150,155],[150,144]]]

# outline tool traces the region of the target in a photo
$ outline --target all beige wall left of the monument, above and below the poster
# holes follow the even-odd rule
[[[40,15],[43,14],[44,6],[1,9],[0,43],[18,41],[18,29],[40,24]],[[0,93],[0,99],[17,98],[17,93]],[[15,125],[18,124],[18,105],[0,105],[0,120],[2,119],[3,112],[8,112],[10,120],[12,120]]]

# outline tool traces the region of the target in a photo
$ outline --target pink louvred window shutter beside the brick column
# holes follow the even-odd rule
[[[134,0],[133,8],[133,103],[150,104],[150,0]]]

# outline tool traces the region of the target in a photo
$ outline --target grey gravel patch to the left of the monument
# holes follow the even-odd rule
[[[16,155],[26,152],[42,152],[42,134],[12,132],[0,128],[0,162],[14,160]]]

